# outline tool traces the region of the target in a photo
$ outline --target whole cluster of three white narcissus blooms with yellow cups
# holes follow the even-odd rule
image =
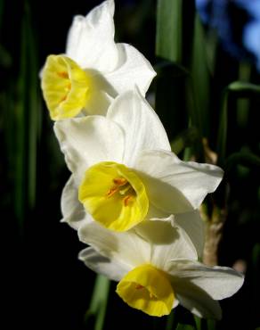
[[[181,161],[144,96],[155,76],[133,46],[114,41],[114,1],[74,18],[66,54],[48,56],[42,89],[71,171],[63,221],[88,244],[79,259],[118,281],[129,306],[163,316],[178,304],[221,318],[218,300],[243,276],[199,262],[199,206],[223,170]]]

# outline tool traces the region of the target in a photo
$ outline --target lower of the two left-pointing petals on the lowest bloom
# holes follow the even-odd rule
[[[88,247],[79,252],[78,259],[85,263],[85,266],[92,269],[98,274],[107,276],[111,280],[120,281],[126,273],[131,270],[126,265],[121,265],[115,260],[103,257],[102,254],[96,252],[93,247]]]

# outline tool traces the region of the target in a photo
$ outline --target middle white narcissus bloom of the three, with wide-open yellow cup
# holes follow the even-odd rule
[[[145,219],[175,215],[193,242],[203,247],[198,208],[215,191],[223,171],[180,161],[170,152],[167,134],[156,113],[135,89],[119,95],[107,116],[88,116],[55,123],[54,130],[72,177],[61,207],[64,220],[79,227],[85,219],[79,200],[94,220],[124,231]],[[188,225],[194,221],[196,225]]]

